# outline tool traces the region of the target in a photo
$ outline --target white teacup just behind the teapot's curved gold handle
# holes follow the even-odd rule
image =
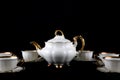
[[[80,61],[93,61],[93,52],[90,50],[82,50],[77,54],[77,59]]]

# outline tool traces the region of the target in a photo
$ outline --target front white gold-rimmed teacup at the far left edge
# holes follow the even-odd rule
[[[0,72],[13,70],[17,67],[18,58],[16,56],[0,57]]]

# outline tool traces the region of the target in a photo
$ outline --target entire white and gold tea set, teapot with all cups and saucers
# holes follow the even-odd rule
[[[42,60],[47,61],[48,67],[54,65],[56,68],[62,68],[65,64],[70,66],[72,60],[96,61],[99,65],[103,65],[103,67],[97,68],[99,71],[120,73],[120,54],[101,52],[99,55],[95,55],[92,50],[84,50],[85,40],[81,35],[74,36],[73,41],[66,39],[62,30],[55,30],[54,35],[52,39],[44,43],[44,47],[41,47],[36,41],[31,41],[30,44],[35,47],[35,50],[21,50],[22,60],[19,60],[12,52],[1,52],[0,73],[23,70],[22,67],[17,66],[19,62]],[[76,49],[78,39],[81,41],[79,50]]]

